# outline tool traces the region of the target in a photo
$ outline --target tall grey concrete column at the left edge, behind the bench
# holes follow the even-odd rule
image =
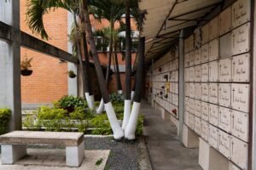
[[[12,42],[0,40],[0,107],[11,109],[9,131],[21,129],[20,0],[0,1],[0,20],[13,26]]]

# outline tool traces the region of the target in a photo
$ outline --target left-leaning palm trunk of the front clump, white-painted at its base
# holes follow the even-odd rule
[[[110,126],[113,130],[113,138],[121,139],[124,137],[124,132],[123,132],[122,128],[119,126],[119,122],[116,118],[115,112],[113,111],[113,105],[112,105],[111,101],[109,100],[108,88],[106,86],[106,82],[105,82],[105,79],[103,76],[102,65],[101,65],[99,56],[96,53],[96,43],[95,43],[93,33],[91,30],[90,16],[89,16],[88,8],[87,8],[87,0],[83,1],[83,6],[84,6],[85,28],[86,28],[86,31],[88,32],[88,39],[90,42],[91,53],[92,53],[92,56],[94,59],[95,67],[96,67],[96,75],[98,77],[98,82],[100,83],[102,99],[104,102],[104,106],[106,108]]]

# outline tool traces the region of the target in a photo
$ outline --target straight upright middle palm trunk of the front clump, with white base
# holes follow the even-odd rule
[[[122,128],[125,130],[131,114],[131,17],[130,0],[125,0],[125,109]]]

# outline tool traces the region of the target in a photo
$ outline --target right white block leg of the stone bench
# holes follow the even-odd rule
[[[84,160],[84,141],[78,146],[66,147],[66,163],[68,167],[79,167]]]

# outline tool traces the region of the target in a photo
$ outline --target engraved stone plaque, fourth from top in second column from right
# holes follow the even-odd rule
[[[218,84],[218,104],[225,107],[231,105],[231,84],[219,83]]]

